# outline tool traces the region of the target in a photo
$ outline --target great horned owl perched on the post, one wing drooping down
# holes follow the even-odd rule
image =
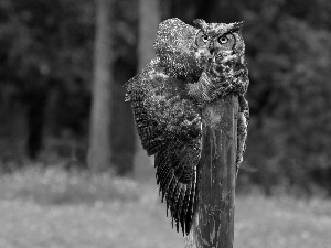
[[[202,151],[201,109],[226,94],[239,96],[237,168],[247,136],[248,86],[242,23],[196,28],[179,19],[160,23],[156,58],[127,84],[137,131],[148,155],[154,155],[157,183],[177,230],[189,234]],[[173,223],[173,222],[172,222]]]

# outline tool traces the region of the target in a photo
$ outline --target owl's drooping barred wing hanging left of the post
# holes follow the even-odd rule
[[[169,211],[177,230],[181,225],[183,234],[189,234],[201,157],[201,117],[184,85],[167,76],[156,58],[126,87],[141,144],[149,155],[154,154],[167,214]]]

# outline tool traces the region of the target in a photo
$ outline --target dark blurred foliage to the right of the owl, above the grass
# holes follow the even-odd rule
[[[331,168],[331,30],[323,18],[331,6],[296,3],[253,1],[242,12],[252,80],[247,158],[268,192],[279,184],[312,191],[311,171]]]

